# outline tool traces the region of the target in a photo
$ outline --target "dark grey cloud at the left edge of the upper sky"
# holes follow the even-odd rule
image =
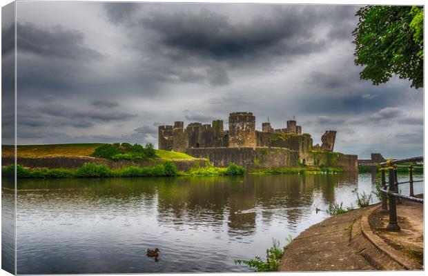
[[[33,23],[17,23],[17,50],[44,57],[101,59],[103,55],[85,45],[85,35],[57,25],[41,28]]]

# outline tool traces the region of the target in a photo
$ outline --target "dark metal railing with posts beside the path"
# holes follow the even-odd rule
[[[406,199],[409,201],[418,202],[420,204],[424,203],[423,199],[415,197],[414,195],[414,183],[422,182],[422,180],[414,180],[413,179],[413,170],[414,164],[416,162],[423,162],[424,157],[411,157],[407,159],[398,159],[398,160],[388,160],[386,162],[380,163],[381,166],[381,181],[382,188],[380,189],[380,193],[382,194],[382,212],[389,211],[389,224],[387,226],[387,230],[392,232],[400,231],[400,226],[398,226],[397,222],[397,203],[400,199]],[[402,163],[410,163],[409,166],[398,166],[398,164]],[[397,177],[397,168],[409,168],[409,181],[398,182]],[[388,185],[386,182],[385,173],[388,170]],[[401,195],[398,192],[398,185],[400,184],[409,184],[409,195]],[[387,203],[388,199],[388,203]],[[389,207],[389,210],[388,210]]]

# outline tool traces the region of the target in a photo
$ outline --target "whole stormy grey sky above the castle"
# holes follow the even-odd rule
[[[358,8],[17,2],[17,142],[157,145],[159,125],[250,111],[360,158],[422,155],[423,89],[359,79]]]

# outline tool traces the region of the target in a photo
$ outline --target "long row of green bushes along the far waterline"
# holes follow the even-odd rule
[[[3,177],[14,177],[14,165],[1,168]],[[127,166],[112,170],[104,164],[89,162],[77,169],[62,168],[24,168],[17,166],[17,178],[72,178],[72,177],[175,177],[175,176],[211,176],[211,175],[244,175],[245,168],[231,164],[227,168],[213,166],[191,168],[187,172],[178,171],[172,161],[164,161],[153,167]]]

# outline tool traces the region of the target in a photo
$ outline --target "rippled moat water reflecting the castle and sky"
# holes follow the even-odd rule
[[[4,225],[13,200],[10,180],[2,180]],[[356,207],[353,190],[371,193],[376,181],[371,174],[20,179],[17,273],[251,271],[233,259],[264,258],[273,238],[285,245],[329,217],[329,204]],[[415,193],[422,189],[415,185]],[[3,264],[12,248],[3,243]],[[158,262],[146,248],[159,248]]]

